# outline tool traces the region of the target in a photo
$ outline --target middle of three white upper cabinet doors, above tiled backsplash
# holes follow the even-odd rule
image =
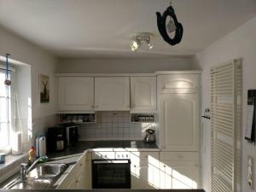
[[[129,111],[130,79],[128,77],[95,79],[96,111]]]

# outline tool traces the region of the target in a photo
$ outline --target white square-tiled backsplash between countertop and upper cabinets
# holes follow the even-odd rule
[[[154,123],[131,123],[130,112],[97,112],[96,124],[79,127],[79,140],[142,140]]]

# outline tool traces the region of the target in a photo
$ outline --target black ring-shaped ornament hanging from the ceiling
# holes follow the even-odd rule
[[[183,25],[177,21],[177,17],[172,6],[168,7],[166,11],[163,13],[163,15],[161,15],[160,12],[156,12],[156,16],[158,30],[162,38],[164,38],[164,40],[171,45],[180,43],[181,39],[183,38]],[[170,38],[166,31],[166,19],[168,16],[171,17],[176,26],[175,36],[173,38]]]

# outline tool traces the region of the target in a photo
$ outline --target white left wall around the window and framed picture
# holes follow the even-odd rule
[[[29,71],[23,72],[24,75],[31,75],[32,81],[32,133],[33,136],[42,134],[45,128],[55,124],[54,74],[58,61],[55,56],[0,26],[0,55],[3,56],[6,53],[9,53],[12,59],[27,63],[31,67],[31,73]],[[48,104],[40,104],[39,102],[39,74],[49,76],[50,102]]]

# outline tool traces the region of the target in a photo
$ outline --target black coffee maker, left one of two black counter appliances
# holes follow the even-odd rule
[[[66,128],[57,125],[49,127],[46,138],[47,152],[61,152],[67,149]]]

